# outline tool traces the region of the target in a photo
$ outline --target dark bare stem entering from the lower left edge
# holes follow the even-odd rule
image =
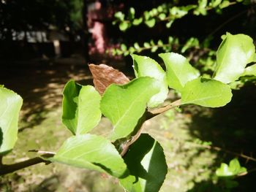
[[[45,157],[45,158],[49,158],[50,156],[53,156],[51,154],[45,154],[45,155],[42,155],[42,157]],[[22,161],[22,162],[19,162],[19,163],[16,163],[16,164],[2,164],[0,166],[0,176],[1,175],[4,175],[4,174],[8,174],[8,173],[12,173],[12,172],[15,172],[15,171],[18,171],[20,169],[24,169],[28,166],[33,166],[35,164],[40,164],[40,163],[45,163],[45,164],[50,164],[50,161],[47,161],[43,158],[40,158],[40,157],[36,157],[36,158],[30,158],[26,161]]]

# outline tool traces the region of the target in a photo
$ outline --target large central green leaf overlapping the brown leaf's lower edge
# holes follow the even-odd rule
[[[100,102],[103,115],[114,126],[110,139],[127,137],[143,116],[149,99],[158,92],[158,83],[151,77],[140,77],[126,85],[110,85]]]

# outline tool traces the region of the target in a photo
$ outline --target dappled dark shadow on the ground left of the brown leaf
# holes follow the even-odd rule
[[[62,90],[74,79],[91,85],[91,74],[86,64],[10,64],[1,67],[0,84],[23,97],[19,131],[32,128],[45,120],[45,115],[61,106]]]

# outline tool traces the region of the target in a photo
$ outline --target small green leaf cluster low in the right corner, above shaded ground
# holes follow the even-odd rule
[[[219,177],[230,177],[244,172],[246,172],[246,168],[240,165],[237,158],[231,160],[229,165],[222,163],[216,170],[216,174]]]

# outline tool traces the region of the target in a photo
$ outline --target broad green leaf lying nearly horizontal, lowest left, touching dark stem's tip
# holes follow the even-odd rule
[[[123,177],[127,166],[116,147],[104,137],[84,134],[72,136],[50,161]]]

